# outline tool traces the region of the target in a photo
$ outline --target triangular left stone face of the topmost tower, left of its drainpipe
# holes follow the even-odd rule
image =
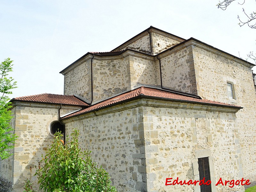
[[[145,53],[150,53],[150,40],[149,40],[149,33],[145,33],[145,35],[143,37],[141,37],[140,39],[136,40],[135,42],[126,45],[125,47],[122,46],[122,49],[133,49],[133,50],[137,50],[140,52],[145,52]],[[119,49],[119,50],[122,50]]]

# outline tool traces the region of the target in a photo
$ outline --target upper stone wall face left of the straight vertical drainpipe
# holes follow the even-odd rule
[[[64,76],[64,94],[80,95],[88,101],[91,100],[91,60],[69,71]]]

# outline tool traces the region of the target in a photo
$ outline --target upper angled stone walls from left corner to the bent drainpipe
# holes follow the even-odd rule
[[[91,60],[87,60],[65,74],[64,93],[66,95],[78,94],[91,101],[91,69],[86,67],[91,66],[89,61]],[[153,57],[95,56],[92,61],[92,73],[93,103],[131,90],[140,84],[160,86],[159,64]]]

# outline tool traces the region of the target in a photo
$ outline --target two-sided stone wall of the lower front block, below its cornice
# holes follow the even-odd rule
[[[162,107],[148,106],[158,103]],[[186,103],[174,104],[180,108],[167,107],[170,104],[135,100],[64,123],[67,134],[74,127],[80,130],[81,147],[92,151],[92,158],[110,174],[119,192],[198,192],[198,185],[185,189],[165,186],[167,177],[199,180],[198,153],[211,161],[213,192],[242,192],[241,185],[214,188],[220,177],[241,179],[243,175],[236,115],[216,109],[198,110],[200,105],[191,109],[194,104]]]

